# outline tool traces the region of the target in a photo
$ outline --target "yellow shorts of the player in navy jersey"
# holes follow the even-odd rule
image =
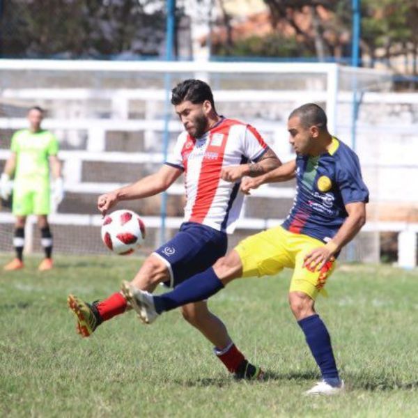
[[[242,263],[242,277],[262,277],[277,274],[283,268],[293,268],[289,291],[303,292],[316,299],[334,271],[336,262],[328,261],[320,271],[303,266],[304,256],[314,248],[325,245],[322,241],[286,231],[281,226],[268,229],[242,240],[235,251]]]

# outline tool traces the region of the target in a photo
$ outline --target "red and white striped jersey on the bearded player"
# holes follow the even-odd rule
[[[222,118],[201,138],[183,132],[166,164],[185,171],[184,222],[196,222],[233,233],[244,195],[240,181],[220,178],[223,167],[258,160],[267,144],[251,125]]]

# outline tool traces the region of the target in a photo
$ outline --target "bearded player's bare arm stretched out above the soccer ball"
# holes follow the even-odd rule
[[[104,216],[118,201],[142,199],[163,192],[177,180],[181,173],[183,170],[164,164],[157,173],[141,178],[132,185],[99,196],[98,210]]]

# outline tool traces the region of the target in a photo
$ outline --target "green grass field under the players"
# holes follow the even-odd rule
[[[235,382],[178,311],[150,326],[129,312],[89,339],[75,334],[68,293],[105,297],[132,277],[138,258],[61,256],[43,274],[39,261],[0,271],[1,417],[418,416],[417,270],[337,270],[317,309],[347,391],[307,398],[319,375],[288,309],[290,272],[236,281],[210,302],[267,371],[264,382]]]

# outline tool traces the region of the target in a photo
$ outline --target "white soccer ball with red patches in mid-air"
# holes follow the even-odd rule
[[[132,210],[115,210],[102,224],[102,240],[107,248],[123,256],[144,244],[145,225]]]

